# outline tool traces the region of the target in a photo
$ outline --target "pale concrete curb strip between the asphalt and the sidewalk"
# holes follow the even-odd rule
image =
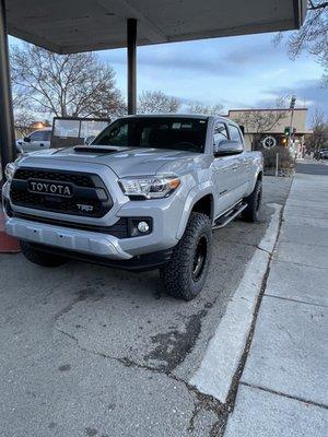
[[[281,205],[274,208],[267,232],[227,305],[225,315],[209,342],[200,367],[189,383],[225,403],[251,328],[262,280],[279,233]]]

